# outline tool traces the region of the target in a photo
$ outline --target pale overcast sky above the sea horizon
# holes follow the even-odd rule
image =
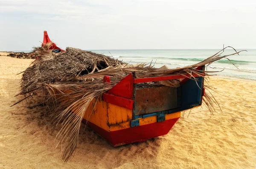
[[[255,0],[0,0],[0,51],[256,48]]]

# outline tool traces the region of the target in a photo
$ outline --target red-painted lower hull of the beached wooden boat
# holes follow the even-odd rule
[[[143,142],[149,138],[166,135],[179,118],[146,124],[138,127],[108,132],[88,121],[88,127],[104,138],[113,146],[121,146],[129,143]],[[85,120],[83,122],[86,122]]]

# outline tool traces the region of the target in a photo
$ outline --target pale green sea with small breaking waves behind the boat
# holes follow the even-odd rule
[[[148,49],[148,50],[88,50],[98,54],[113,56],[130,64],[146,62],[154,64],[155,68],[167,65],[169,68],[183,67],[201,62],[209,56],[217,53],[221,49]],[[237,49],[240,51],[241,49]],[[229,56],[228,60],[221,59],[207,67],[209,71],[221,71],[220,76],[230,76],[235,78],[256,80],[256,49],[245,49],[239,55]],[[232,54],[235,51],[227,49],[222,55]]]

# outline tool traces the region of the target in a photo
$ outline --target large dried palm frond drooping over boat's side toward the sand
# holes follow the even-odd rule
[[[67,161],[76,149],[81,122],[88,107],[92,102],[95,106],[99,96],[111,89],[117,82],[119,81],[104,84],[96,80],[93,86],[90,85],[91,82],[56,82],[44,85],[55,103],[58,104],[51,114],[52,127],[54,129],[59,123],[63,126],[56,137],[59,140],[58,144],[66,145],[62,157],[64,161]],[[63,92],[67,90],[68,93]],[[93,111],[94,107],[91,110]]]

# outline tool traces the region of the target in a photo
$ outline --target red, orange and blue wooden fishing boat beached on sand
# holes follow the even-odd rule
[[[44,44],[47,42],[49,37],[45,31]],[[61,50],[56,46],[53,49]],[[204,66],[197,69],[204,70]],[[166,135],[180,118],[181,111],[202,104],[204,77],[192,75],[196,80],[189,74],[185,78],[184,75],[137,78],[135,73],[130,73],[97,101],[91,102],[83,122],[113,146]],[[174,79],[178,79],[179,87],[143,86],[147,82]],[[111,78],[105,76],[102,83],[109,82]]]

